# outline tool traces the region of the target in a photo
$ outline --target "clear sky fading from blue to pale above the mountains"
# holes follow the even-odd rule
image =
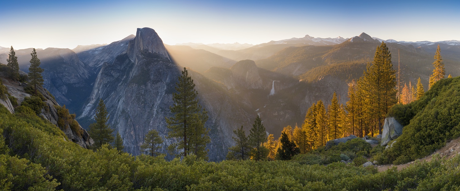
[[[150,27],[165,44],[248,43],[364,32],[397,41],[460,40],[460,1],[14,0],[0,6],[0,46],[110,44]]]

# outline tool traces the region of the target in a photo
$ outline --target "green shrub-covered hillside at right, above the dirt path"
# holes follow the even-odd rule
[[[377,158],[381,163],[403,164],[429,155],[460,136],[460,77],[436,82],[419,100],[393,106],[388,116],[404,128]]]

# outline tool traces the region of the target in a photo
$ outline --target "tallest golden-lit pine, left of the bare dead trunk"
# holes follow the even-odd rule
[[[382,134],[382,120],[388,110],[396,104],[396,75],[391,63],[391,53],[385,42],[375,50],[372,65],[368,64],[364,75],[360,78],[370,116],[377,120],[379,133]],[[374,132],[372,131],[372,134]]]

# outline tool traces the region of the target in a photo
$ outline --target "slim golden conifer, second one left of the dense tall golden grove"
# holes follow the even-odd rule
[[[315,146],[321,147],[326,145],[328,142],[328,117],[326,115],[326,109],[324,108],[324,104],[320,99],[316,103],[316,141]]]

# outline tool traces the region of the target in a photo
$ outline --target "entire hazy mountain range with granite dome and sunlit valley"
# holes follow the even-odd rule
[[[109,123],[120,132],[125,150],[135,155],[150,129],[165,140],[163,152],[174,141],[166,138],[164,118],[172,115],[169,106],[180,71],[189,68],[200,104],[209,115],[205,124],[211,130],[209,158],[220,161],[234,144],[233,130],[244,126],[248,132],[256,115],[277,137],[284,126],[300,126],[306,110],[319,99],[328,105],[336,92],[345,104],[348,83],[362,75],[381,41],[366,33],[352,38],[306,35],[230,49],[231,44],[166,45],[155,30],[138,28],[136,35],[111,44],[37,49],[37,55],[45,69],[44,87],[57,103],[75,112],[86,128],[96,103],[103,99]],[[394,68],[399,50],[403,82],[414,84],[421,77],[427,87],[437,44],[446,75],[460,75],[458,41],[385,42]],[[6,63],[8,52],[0,47],[1,63]],[[28,71],[30,52],[16,50],[23,71]]]

